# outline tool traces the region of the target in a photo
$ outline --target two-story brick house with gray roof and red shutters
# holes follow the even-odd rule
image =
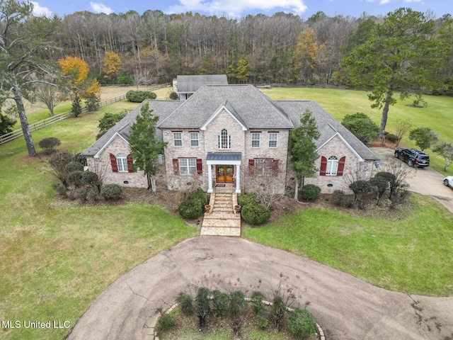
[[[289,133],[308,109],[321,137],[319,176],[306,179],[323,192],[347,190],[346,171],[371,176],[378,157],[350,131],[313,101],[273,101],[252,85],[205,85],[185,101],[149,101],[159,115],[157,130],[167,146],[159,161],[166,183],[183,189],[190,176],[197,176],[211,193],[217,186],[231,185],[236,193],[250,189],[254,178],[270,171],[276,190],[294,181],[288,162]],[[140,111],[136,108],[109,130],[84,154],[93,171],[105,169],[105,183],[148,187],[141,171],[132,172],[127,138]],[[263,183],[265,185],[265,183]]]

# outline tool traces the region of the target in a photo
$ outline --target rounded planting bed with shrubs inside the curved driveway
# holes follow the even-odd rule
[[[304,308],[292,309],[282,297],[263,300],[241,291],[230,294],[200,288],[196,297],[181,293],[156,323],[159,340],[324,340],[319,324]]]

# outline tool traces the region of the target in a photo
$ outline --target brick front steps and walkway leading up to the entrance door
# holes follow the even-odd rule
[[[241,214],[234,212],[237,204],[237,193],[211,193],[211,212],[203,217],[200,235],[240,237]]]

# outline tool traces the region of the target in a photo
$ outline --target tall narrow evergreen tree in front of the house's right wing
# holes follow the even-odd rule
[[[299,181],[302,180],[303,188],[304,178],[316,175],[314,162],[319,158],[319,154],[316,152],[315,140],[318,140],[320,136],[316,120],[311,111],[307,109],[300,119],[300,125],[294,128],[289,135],[289,162],[296,175],[295,200],[299,193]]]

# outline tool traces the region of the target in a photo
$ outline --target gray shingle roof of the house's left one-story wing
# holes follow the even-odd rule
[[[159,121],[157,122],[159,124],[178,106],[180,106],[180,103],[180,101],[149,101],[149,108],[153,110],[154,115],[159,115]],[[122,118],[122,120],[120,120],[113,128],[108,130],[108,132],[105,132],[105,135],[96,140],[96,142],[82,152],[82,154],[85,156],[94,156],[116,133],[118,133],[125,140],[128,140],[131,132],[131,126],[135,123],[135,118],[140,113],[143,104],[144,103],[141,103],[137,106],[137,108],[134,108],[133,111],[131,111],[125,118]],[[162,139],[162,131],[156,130],[156,133],[157,137]]]

